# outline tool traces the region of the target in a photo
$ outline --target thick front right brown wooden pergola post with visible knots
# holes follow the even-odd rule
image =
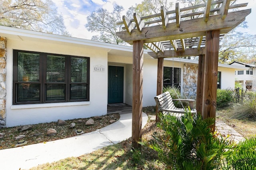
[[[220,30],[206,32],[206,53],[204,64],[204,93],[202,116],[216,117],[217,78],[218,78],[218,52]],[[211,127],[215,131],[215,124]]]

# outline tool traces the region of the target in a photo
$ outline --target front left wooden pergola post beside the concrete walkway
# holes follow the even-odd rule
[[[143,40],[133,41],[132,147],[138,149],[142,137]]]

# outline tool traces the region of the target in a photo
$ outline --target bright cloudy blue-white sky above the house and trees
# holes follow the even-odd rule
[[[91,12],[98,8],[104,8],[111,12],[114,4],[118,4],[124,7],[123,15],[125,15],[130,6],[140,4],[142,0],[53,0],[53,2],[58,7],[58,12],[63,15],[67,31],[71,33],[72,37],[91,39],[93,35],[97,35],[95,32],[87,31],[85,27],[86,17]],[[248,2],[248,6],[243,9],[251,8],[252,13],[246,17],[248,28],[239,29],[239,31],[256,35],[256,21],[254,20],[256,17],[256,0],[238,0],[239,4],[245,2]]]

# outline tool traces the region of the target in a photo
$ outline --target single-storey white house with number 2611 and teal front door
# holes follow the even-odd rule
[[[155,105],[157,84],[157,59],[148,52],[144,107]],[[196,98],[197,63],[165,59],[164,85],[173,77],[186,98]],[[234,88],[234,71],[241,69],[219,64],[219,88]],[[0,26],[0,126],[105,115],[110,103],[132,105],[132,70],[132,47]]]

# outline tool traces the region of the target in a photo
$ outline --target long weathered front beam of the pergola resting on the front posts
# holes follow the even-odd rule
[[[245,20],[245,17],[250,13],[251,9],[247,9],[231,12],[225,20],[221,19],[221,15],[214,15],[209,17],[208,22],[205,22],[204,18],[181,21],[182,27],[179,29],[177,29],[176,23],[168,23],[166,29],[155,25],[142,28],[142,32],[133,29],[131,34],[121,31],[117,32],[116,35],[128,43],[138,40],[144,40],[144,43],[151,43],[170,39],[205,36],[206,31],[216,29],[221,29],[220,33],[222,34],[232,30],[234,25],[240,24],[240,21]]]

